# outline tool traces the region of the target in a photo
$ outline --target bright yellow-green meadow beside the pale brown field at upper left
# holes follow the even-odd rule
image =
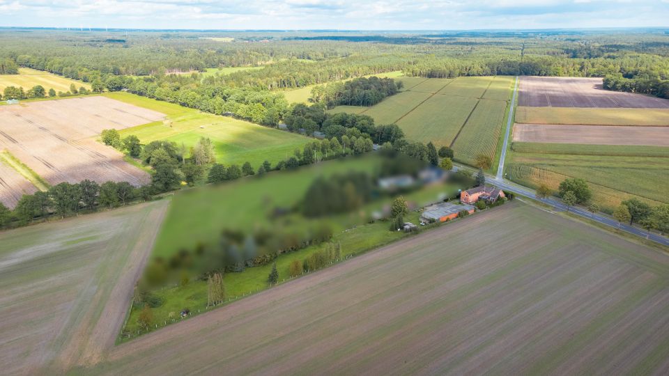
[[[160,102],[128,93],[107,93],[107,97],[153,109],[167,115],[167,120],[139,125],[121,131],[125,137],[134,134],[142,143],[156,140],[184,143],[194,146],[200,137],[209,137],[215,144],[216,160],[222,164],[251,162],[254,169],[268,160],[275,164],[293,155],[295,148],[302,148],[310,139],[299,134],[275,130],[237,120],[216,116],[178,104]]]

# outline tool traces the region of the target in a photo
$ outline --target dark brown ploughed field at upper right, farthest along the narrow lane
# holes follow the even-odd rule
[[[601,78],[523,76],[518,106],[669,109],[669,100],[603,90]]]

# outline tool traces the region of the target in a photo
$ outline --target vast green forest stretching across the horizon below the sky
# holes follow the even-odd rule
[[[233,39],[208,39],[215,37]],[[207,68],[243,66],[263,69],[199,75]],[[213,98],[240,89],[253,96],[398,70],[418,77],[608,77],[611,90],[668,97],[669,34],[657,29],[383,35],[6,29],[0,33],[0,73],[17,67],[97,82],[109,90],[159,93],[155,97],[174,102],[183,91]],[[194,74],[166,78],[172,72]],[[263,100],[235,101],[265,106]]]

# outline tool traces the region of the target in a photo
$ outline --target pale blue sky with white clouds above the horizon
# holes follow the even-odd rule
[[[0,26],[349,30],[669,26],[669,0],[0,0]]]

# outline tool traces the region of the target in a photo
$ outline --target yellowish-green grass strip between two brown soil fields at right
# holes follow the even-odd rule
[[[516,123],[669,126],[669,109],[518,107]]]

